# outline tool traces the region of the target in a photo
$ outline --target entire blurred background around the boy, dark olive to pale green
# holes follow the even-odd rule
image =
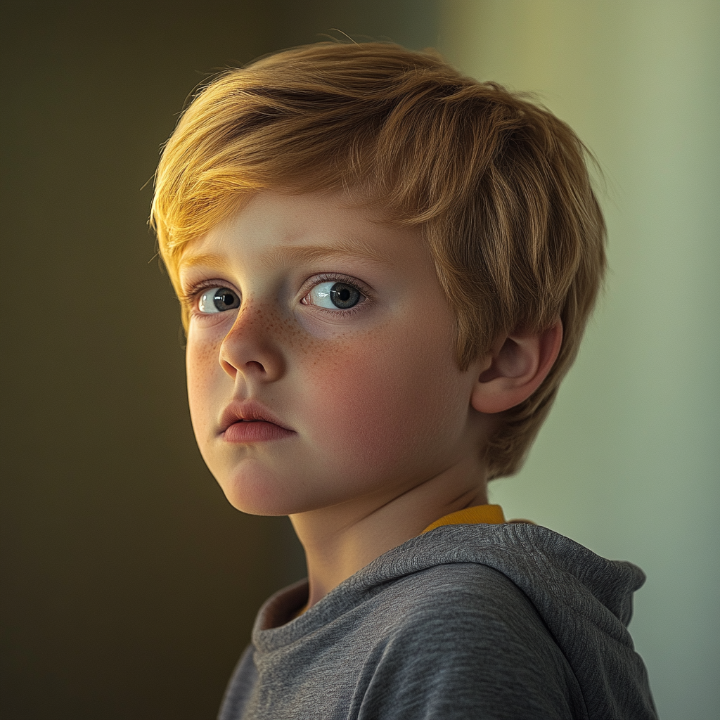
[[[258,606],[304,575],[287,519],[233,510],[200,459],[146,220],[194,86],[343,32],[534,91],[598,157],[606,295],[526,467],[491,500],[639,564],[630,629],[660,716],[720,716],[716,0],[3,14],[4,718],[212,718]]]

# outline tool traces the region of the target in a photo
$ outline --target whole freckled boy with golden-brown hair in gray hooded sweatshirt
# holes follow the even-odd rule
[[[487,504],[605,267],[567,125],[433,54],[295,48],[194,99],[153,222],[202,456],[307,557],[222,720],[655,717],[642,572]]]

